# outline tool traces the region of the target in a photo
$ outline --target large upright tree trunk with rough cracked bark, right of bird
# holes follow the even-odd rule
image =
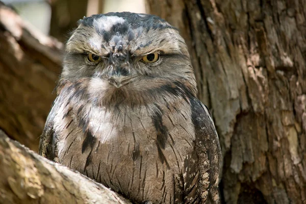
[[[306,1],[147,0],[181,30],[223,152],[226,203],[306,203]]]

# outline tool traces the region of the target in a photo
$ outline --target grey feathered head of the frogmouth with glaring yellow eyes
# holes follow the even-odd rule
[[[129,12],[80,20],[66,43],[60,82],[83,83],[92,97],[114,100],[144,100],[179,85],[196,94],[188,49],[177,29],[157,16]]]

